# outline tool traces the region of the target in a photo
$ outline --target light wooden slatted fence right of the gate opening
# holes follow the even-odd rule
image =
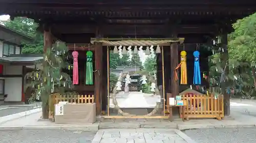
[[[183,95],[181,99],[186,102],[185,118],[217,118],[224,117],[224,99],[219,95],[217,99],[213,94],[207,95]],[[182,115],[182,111],[180,110]]]

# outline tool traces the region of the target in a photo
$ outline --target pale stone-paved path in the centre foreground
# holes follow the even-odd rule
[[[177,129],[101,129],[92,143],[194,143]]]

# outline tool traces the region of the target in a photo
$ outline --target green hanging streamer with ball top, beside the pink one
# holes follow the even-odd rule
[[[88,51],[86,53],[87,61],[86,61],[86,84],[93,84],[93,52]]]

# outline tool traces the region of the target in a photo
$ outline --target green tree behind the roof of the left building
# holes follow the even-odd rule
[[[2,22],[6,27],[32,37],[32,43],[22,42],[22,53],[42,53],[44,46],[44,36],[36,31],[38,24],[33,19],[25,17],[15,17],[14,20],[7,20]]]

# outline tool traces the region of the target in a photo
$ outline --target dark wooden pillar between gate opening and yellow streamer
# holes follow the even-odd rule
[[[179,94],[179,82],[175,79],[175,68],[179,64],[179,54],[178,54],[178,43],[172,43],[170,45],[170,84],[172,89],[172,97],[176,97]]]

